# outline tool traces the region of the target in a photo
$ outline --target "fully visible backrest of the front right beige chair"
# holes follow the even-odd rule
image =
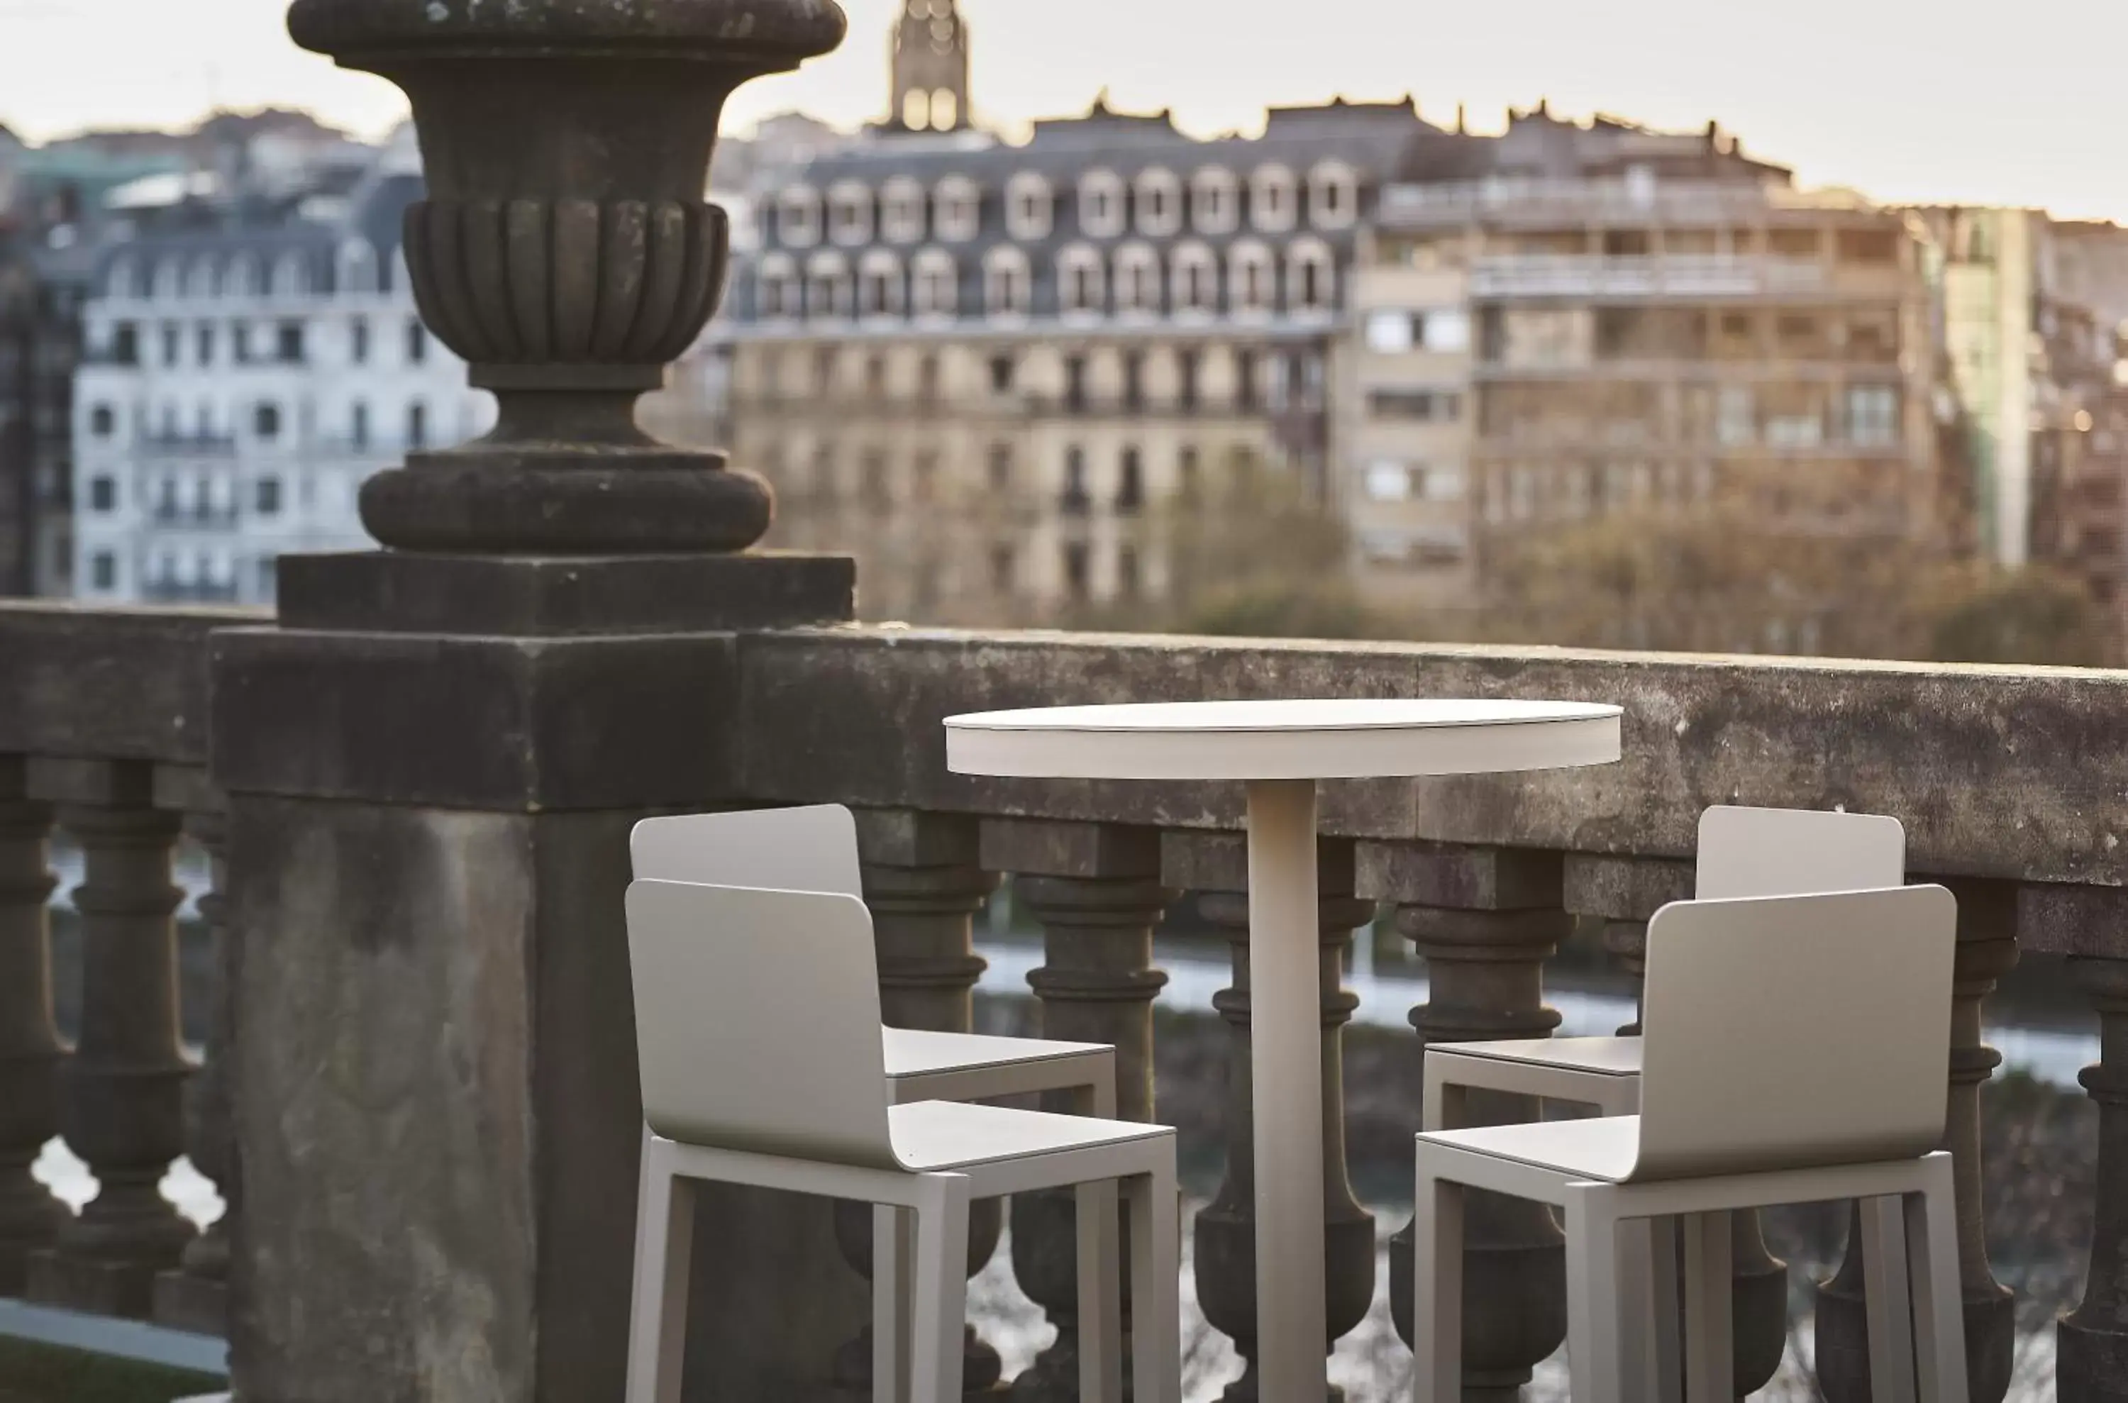
[[[1941,886],[1658,911],[1632,1177],[1934,1150],[1956,941],[1958,903]]]

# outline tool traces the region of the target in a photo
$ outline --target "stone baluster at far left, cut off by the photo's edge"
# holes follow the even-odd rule
[[[28,766],[0,756],[0,1297],[19,1297],[30,1252],[49,1248],[66,1205],[30,1177],[60,1133],[60,1033],[51,1022],[51,809]]]

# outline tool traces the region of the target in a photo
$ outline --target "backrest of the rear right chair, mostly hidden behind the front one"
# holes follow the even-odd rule
[[[1877,813],[1713,807],[1700,813],[1700,901],[1868,892],[1907,881],[1907,828]]]

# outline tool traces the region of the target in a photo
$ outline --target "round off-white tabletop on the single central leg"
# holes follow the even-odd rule
[[[947,769],[1026,779],[1392,779],[1609,764],[1622,707],[1551,700],[1213,700],[985,711]]]

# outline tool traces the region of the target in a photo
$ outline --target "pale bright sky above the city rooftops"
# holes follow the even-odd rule
[[[898,0],[843,0],[851,38],[738,92],[728,128],[800,109],[885,113]],[[309,106],[375,136],[389,83],[283,30],[285,0],[0,0],[0,123],[177,126],[211,106]],[[1187,130],[1266,104],[1413,94],[1496,130],[1549,98],[1666,128],[1719,119],[1809,185],[1894,202],[2032,204],[2128,221],[2128,4],[2117,0],[962,0],[977,115],[1007,132],[1173,106]]]

